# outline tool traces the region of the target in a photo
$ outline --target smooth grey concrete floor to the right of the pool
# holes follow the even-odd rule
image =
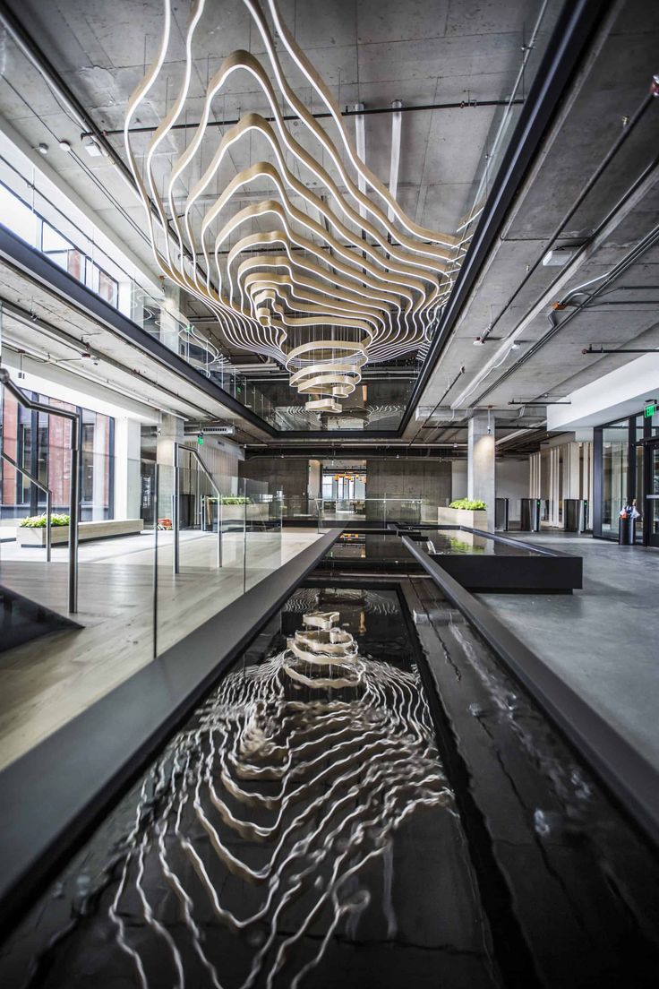
[[[659,550],[588,536],[516,538],[583,557],[583,590],[476,596],[659,765]]]

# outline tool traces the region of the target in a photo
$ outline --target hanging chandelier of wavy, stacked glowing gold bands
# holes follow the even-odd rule
[[[128,161],[162,272],[210,307],[232,344],[284,364],[308,407],[340,412],[340,400],[355,391],[367,361],[427,343],[463,244],[413,223],[358,156],[338,104],[289,34],[275,0],[266,2],[272,26],[256,0],[243,2],[269,71],[248,51],[223,60],[207,83],[201,121],[173,160],[161,194],[154,164],[167,151],[172,128],[186,119],[205,9],[205,0],[193,4],[180,88],[138,163],[130,126],[164,74],[172,21],[171,0],[165,0],[158,54],[126,113]],[[336,141],[293,92],[281,53],[324,104]],[[268,119],[246,113],[208,149],[213,100],[226,92],[234,72],[250,74],[268,104]],[[262,160],[253,160],[253,141]],[[231,154],[247,148],[247,166],[220,182]],[[257,201],[240,207],[241,196]],[[171,220],[178,249],[167,236],[158,246],[151,204],[163,227]],[[203,257],[206,274],[186,254]]]

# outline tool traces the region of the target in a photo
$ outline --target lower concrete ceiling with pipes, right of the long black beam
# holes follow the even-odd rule
[[[432,424],[446,417],[446,409],[559,401],[638,356],[585,355],[591,344],[659,347],[659,246],[652,237],[659,225],[659,98],[649,102],[583,203],[561,225],[646,98],[659,67],[657,50],[659,7],[636,0],[614,4],[421,399],[426,414],[440,400],[441,409],[420,433],[423,418],[411,423],[409,435],[442,438]],[[570,268],[540,263],[557,244],[583,246]],[[605,276],[618,267],[609,283]],[[571,293],[584,283],[589,292],[603,291],[578,310],[586,296]],[[552,308],[564,301],[565,308]],[[484,345],[474,346],[488,332]],[[515,333],[519,347],[510,349]],[[446,394],[460,367],[464,374]]]

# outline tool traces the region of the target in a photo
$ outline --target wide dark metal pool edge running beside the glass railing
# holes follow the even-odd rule
[[[340,535],[321,536],[0,772],[0,934]]]

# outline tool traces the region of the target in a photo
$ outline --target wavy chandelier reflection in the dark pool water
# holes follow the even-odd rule
[[[272,986],[285,965],[299,986],[354,937],[397,829],[451,805],[416,672],[361,657],[338,619],[307,612],[286,650],[226,675],[146,778],[110,907],[142,989],[169,968]]]

